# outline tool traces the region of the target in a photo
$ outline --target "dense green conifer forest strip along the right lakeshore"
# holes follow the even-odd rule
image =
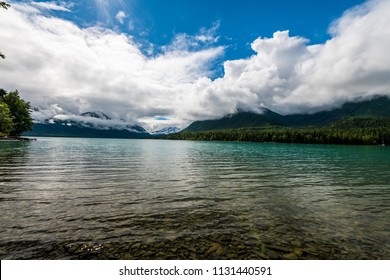
[[[182,132],[172,140],[248,141],[305,144],[382,145],[390,143],[390,118],[346,117],[322,127],[264,126]]]

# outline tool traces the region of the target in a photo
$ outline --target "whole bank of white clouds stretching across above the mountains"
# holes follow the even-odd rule
[[[153,56],[132,36],[81,28],[47,13],[71,12],[54,3],[13,4],[0,11],[0,87],[18,89],[40,115],[102,111],[149,129],[184,126],[237,109],[282,114],[314,112],[357,97],[390,94],[390,1],[373,0],[334,21],[331,38],[310,42],[288,31],[257,38],[254,54],[215,62],[220,22],[198,34],[177,34]],[[124,14],[118,13],[118,21]],[[166,122],[166,123],[164,123]]]

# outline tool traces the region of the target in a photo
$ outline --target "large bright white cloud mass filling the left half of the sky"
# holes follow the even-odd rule
[[[182,125],[177,108],[222,47],[170,49],[146,57],[132,37],[112,30],[46,17],[26,4],[0,11],[0,87],[17,88],[33,106],[74,115],[102,111],[140,123],[161,115]],[[18,36],[14,36],[18,34]],[[45,111],[45,112],[50,112]]]

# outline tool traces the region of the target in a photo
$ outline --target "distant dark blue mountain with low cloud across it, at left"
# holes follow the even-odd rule
[[[39,109],[34,108],[34,112]],[[90,138],[147,138],[149,133],[141,126],[112,120],[102,112],[80,115],[56,115],[44,121],[35,120],[29,136],[90,137]]]

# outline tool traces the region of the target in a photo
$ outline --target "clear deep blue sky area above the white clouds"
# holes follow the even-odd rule
[[[40,1],[52,3],[53,1]],[[71,1],[63,1],[71,2]],[[329,39],[328,27],[348,8],[363,0],[80,0],[72,13],[58,13],[80,26],[101,25],[135,36],[139,42],[168,45],[175,34],[194,35],[201,29],[215,30],[218,43],[227,46],[225,58],[253,54],[250,43],[272,37],[278,30],[303,36],[310,43]],[[116,16],[123,12],[123,24]]]

